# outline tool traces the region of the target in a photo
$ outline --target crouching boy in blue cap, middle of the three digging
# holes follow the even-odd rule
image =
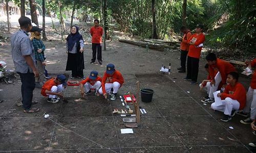
[[[97,71],[91,71],[89,77],[80,82],[80,91],[82,97],[91,93],[91,89],[95,89],[95,95],[97,95],[99,88],[101,87],[101,78],[98,77]]]

